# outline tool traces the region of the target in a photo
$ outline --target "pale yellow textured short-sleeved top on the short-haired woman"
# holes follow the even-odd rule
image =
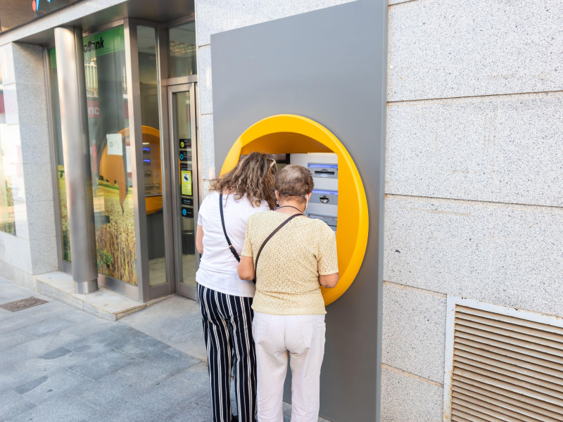
[[[241,255],[256,255],[289,215],[257,212],[248,219]],[[320,219],[295,217],[266,243],[256,269],[253,309],[263,314],[326,314],[319,275],[339,271],[334,231]]]

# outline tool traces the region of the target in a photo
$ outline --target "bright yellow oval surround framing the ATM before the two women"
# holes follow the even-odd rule
[[[360,173],[350,154],[329,129],[307,117],[275,115],[253,124],[241,134],[227,154],[221,174],[232,170],[241,155],[336,153],[339,164],[339,203],[336,244],[340,280],[336,288],[321,288],[324,304],[340,298],[360,271],[367,247],[369,217]]]

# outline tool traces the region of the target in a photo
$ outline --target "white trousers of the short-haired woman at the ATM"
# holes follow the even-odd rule
[[[291,422],[317,422],[324,332],[324,315],[254,312],[258,422],[284,422],[282,402],[288,356]]]

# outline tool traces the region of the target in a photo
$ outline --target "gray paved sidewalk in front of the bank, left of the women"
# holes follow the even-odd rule
[[[30,297],[46,302],[0,308],[0,421],[213,421],[196,302],[114,322],[0,278],[0,305]]]

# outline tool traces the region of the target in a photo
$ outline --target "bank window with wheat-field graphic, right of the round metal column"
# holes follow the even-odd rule
[[[137,285],[123,27],[83,39],[98,272]]]

